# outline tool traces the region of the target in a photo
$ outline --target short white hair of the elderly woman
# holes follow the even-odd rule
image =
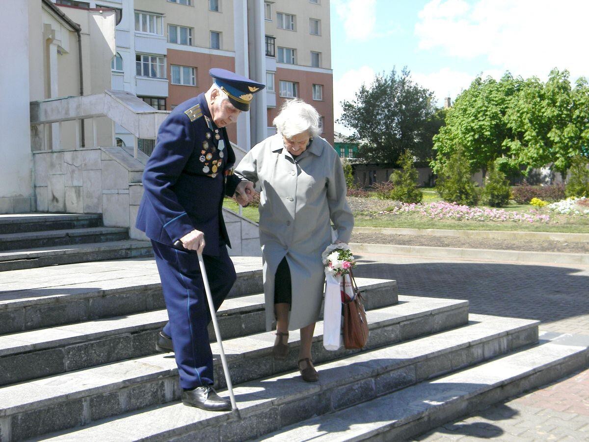
[[[312,105],[300,98],[284,101],[273,124],[276,130],[286,138],[292,138],[303,132],[309,132],[312,137],[320,133],[319,113]]]

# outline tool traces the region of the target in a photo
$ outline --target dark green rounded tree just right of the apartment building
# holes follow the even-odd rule
[[[407,68],[397,74],[376,75],[370,87],[362,85],[352,101],[342,102],[338,123],[352,128],[359,143],[358,157],[372,163],[396,164],[405,150],[418,161],[432,156],[432,137],[443,120],[433,94],[410,78]]]

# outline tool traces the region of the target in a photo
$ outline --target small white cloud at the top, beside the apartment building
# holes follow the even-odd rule
[[[366,41],[374,37],[376,0],[332,0],[346,37]]]

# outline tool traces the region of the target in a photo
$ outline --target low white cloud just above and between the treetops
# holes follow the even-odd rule
[[[483,78],[490,75],[495,78],[495,80],[499,80],[503,73],[504,72],[500,70],[489,70],[472,74],[471,72],[442,68],[441,70],[430,74],[411,72],[411,79],[420,86],[432,91],[436,97],[436,105],[441,107],[444,105],[445,97],[452,98],[452,103],[454,103],[456,95],[461,93],[461,91],[468,89],[472,80],[474,80],[477,75],[480,74]]]

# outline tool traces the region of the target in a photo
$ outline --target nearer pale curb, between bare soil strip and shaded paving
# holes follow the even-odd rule
[[[520,250],[457,249],[450,247],[395,246],[389,244],[350,243],[355,253],[426,256],[487,261],[517,261],[553,264],[589,265],[589,255],[581,253],[524,252]]]

